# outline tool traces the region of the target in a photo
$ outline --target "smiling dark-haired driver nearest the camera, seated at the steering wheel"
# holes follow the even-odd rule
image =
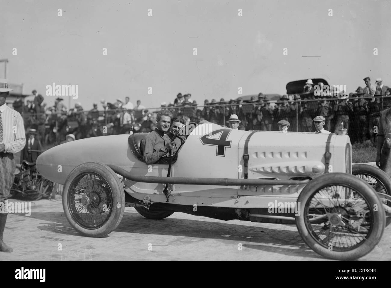
[[[170,140],[166,132],[170,129],[172,114],[168,110],[161,110],[156,115],[156,128],[142,141],[143,160],[146,164],[156,163],[160,159],[170,157],[176,152],[175,142]]]

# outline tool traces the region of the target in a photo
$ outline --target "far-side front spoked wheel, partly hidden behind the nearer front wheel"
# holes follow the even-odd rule
[[[352,165],[352,174],[371,185],[377,193],[391,195],[391,178],[383,170],[367,164],[355,164]],[[379,197],[384,203],[384,206],[391,207],[391,201],[382,199],[381,194],[379,194]],[[386,213],[386,215],[387,227],[391,223],[391,214]]]

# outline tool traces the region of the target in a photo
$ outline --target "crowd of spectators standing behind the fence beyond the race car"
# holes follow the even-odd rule
[[[323,83],[317,84],[323,89]],[[169,110],[174,117],[181,116],[185,122],[206,120],[219,125],[225,125],[230,115],[236,114],[242,121],[239,129],[260,131],[278,131],[278,122],[284,120],[290,124],[289,131],[314,132],[312,119],[324,116],[325,130],[334,133],[346,130],[352,143],[375,142],[374,127],[378,125],[381,111],[391,104],[391,89],[382,84],[382,79],[371,84],[371,79],[366,77],[364,84],[364,88],[358,87],[349,95],[346,91],[337,91],[337,95],[335,91],[327,91],[319,95],[314,93],[314,83],[308,79],[302,93],[285,94],[279,99],[259,93],[258,97],[250,99],[206,99],[203,105],[192,100],[190,93],[178,93],[169,104],[161,103],[160,109]],[[26,129],[36,129],[45,143],[60,143],[71,133],[76,139],[122,134],[131,126],[138,126],[136,132],[150,132],[156,125],[152,108],[146,109],[141,100],[133,105],[129,97],[117,98],[113,103],[102,99],[100,104],[100,110],[97,103],[89,111],[84,111],[81,103],[67,109],[63,98],[58,97],[53,106],[47,106],[44,97],[34,90],[25,103],[18,97],[13,108],[22,114]],[[103,126],[108,131],[102,131]]]

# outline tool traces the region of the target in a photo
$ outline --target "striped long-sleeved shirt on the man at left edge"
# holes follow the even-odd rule
[[[4,152],[15,154],[26,144],[22,115],[6,103],[0,106],[0,113],[3,122],[3,142],[0,144],[4,144]]]

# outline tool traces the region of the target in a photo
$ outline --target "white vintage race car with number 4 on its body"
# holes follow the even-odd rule
[[[64,212],[80,234],[109,234],[125,206],[133,206],[151,219],[179,211],[296,223],[305,243],[331,259],[362,257],[380,241],[390,182],[362,167],[355,174],[374,182],[352,175],[346,135],[241,131],[190,122],[174,136],[182,137],[177,154],[152,165],[143,162],[140,148],[146,135],[72,141],[38,157],[38,171],[65,185]]]

